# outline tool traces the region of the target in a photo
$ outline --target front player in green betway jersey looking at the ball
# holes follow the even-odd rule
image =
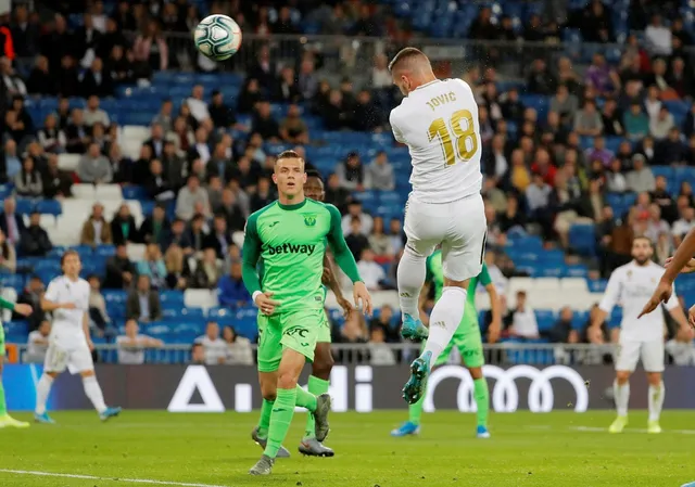
[[[263,315],[258,329],[258,375],[266,400],[275,400],[267,445],[252,475],[268,475],[289,430],[295,406],[309,410],[315,435],[328,435],[330,397],[318,397],[298,386],[306,360],[314,360],[318,334],[325,322],[321,275],[326,243],[336,262],[353,282],[355,305],[371,313],[371,297],[359,278],[345,244],[341,216],[332,205],[304,195],[304,161],[293,151],[281,153],[273,181],[278,201],[249,217],[243,243],[243,281]],[[263,283],[257,264],[263,259]]]

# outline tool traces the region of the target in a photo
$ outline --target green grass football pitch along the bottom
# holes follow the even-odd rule
[[[15,415],[29,420],[26,413]],[[59,424],[0,430],[2,487],[680,487],[695,480],[695,412],[666,411],[660,435],[633,411],[610,435],[611,411],[491,414],[491,439],[473,437],[475,418],[424,415],[417,437],[392,438],[404,412],[331,415],[329,459],[296,447],[304,413],[286,441],[292,458],[268,477],[249,469],[261,456],[250,439],[256,413],[124,411],[105,424],[92,412],[58,412]]]

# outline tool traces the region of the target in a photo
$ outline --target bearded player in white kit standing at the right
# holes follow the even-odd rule
[[[645,236],[637,236],[632,241],[632,257],[630,264],[617,268],[608,280],[598,312],[592,320],[589,333],[601,333],[601,324],[610,315],[612,308],[622,306],[622,321],[620,322],[620,339],[616,358],[616,381],[614,394],[618,418],[609,427],[610,433],[620,433],[628,424],[628,402],[630,401],[630,374],[642,359],[642,366],[649,383],[648,432],[661,433],[659,415],[664,405],[666,389],[661,381],[664,372],[664,313],[661,309],[646,313],[640,318],[640,312],[646,299],[652,295],[654,285],[664,274],[664,268],[652,261],[654,247]],[[665,304],[671,317],[681,326],[682,332],[690,333],[683,310],[679,306],[675,293]]]

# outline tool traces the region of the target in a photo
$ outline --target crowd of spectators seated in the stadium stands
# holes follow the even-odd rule
[[[162,345],[138,329],[138,323],[161,318],[157,290],[217,290],[220,306],[250,306],[235,233],[242,232],[250,213],[276,197],[273,148],[289,145],[306,155],[306,148],[324,143],[315,137],[309,118],[318,119],[321,130],[388,136],[389,110],[400,97],[391,84],[388,54],[414,34],[414,27],[389,2],[121,1],[113,11],[108,9],[113,2],[58,3],[59,12],[47,24],[40,22],[46,13],[29,12],[20,3],[9,28],[0,29],[12,39],[4,43],[0,63],[4,102],[0,180],[13,187],[17,198],[67,198],[71,185],[81,182],[140,184],[156,202],[140,226],[125,204],[115,215],[105,215],[104,207],[96,204],[79,235],[81,245],[115,246],[103,279],[89,277],[94,333],[114,337],[123,324],[109,318],[101,290],[127,290],[127,322],[114,339],[122,345],[122,362],[142,362],[143,348]],[[584,264],[587,275],[598,279],[630,259],[633,236],[649,236],[662,264],[695,227],[692,184],[688,178],[672,177],[695,166],[688,51],[693,38],[682,18],[662,18],[671,11],[669,2],[659,3],[661,15],[650,10],[650,2],[634,3],[629,22],[640,34],[626,39],[617,59],[596,51],[587,65],[580,65],[582,60],[541,50],[523,80],[509,82],[496,71],[504,53],[491,49],[465,73],[451,73],[469,82],[479,102],[488,267],[503,296],[508,278],[529,272],[528,266],[515,266],[506,252],[518,235],[542,235],[545,249],[561,249],[567,264]],[[320,54],[306,50],[296,53],[294,64],[278,64],[269,44],[254,42],[249,65],[235,65],[245,73],[236,99],[195,85],[182,102],[163,100],[139,157],[130,159],[119,145],[122,128],[101,103],[119,86],[146,84],[155,72],[179,67],[180,56],[167,33],[189,33],[201,16],[199,9],[231,15],[244,33],[268,39],[271,34],[295,34],[312,26],[325,34],[386,35],[389,49],[375,56],[364,84],[345,77],[331,85],[321,71]],[[486,7],[479,11],[467,33],[471,39],[553,43],[581,26],[585,41],[617,40],[610,12],[597,0],[571,11],[560,23],[553,15],[530,14],[519,24],[509,15],[493,16]],[[558,15],[557,9],[552,12]],[[197,67],[216,68],[205,61]],[[525,103],[529,95],[543,103]],[[58,97],[56,112],[45,119],[33,118],[26,106],[39,97]],[[86,99],[84,110],[74,105],[73,97]],[[274,110],[276,104],[287,106],[282,116]],[[685,104],[692,107],[684,112]],[[63,153],[80,155],[74,174],[59,167]],[[325,177],[326,201],[344,215],[343,231],[368,287],[394,289],[405,240],[401,216],[380,215],[363,204],[363,195],[396,190],[399,169],[389,152],[346,151],[330,171],[314,166],[312,157],[306,161],[308,171]],[[628,204],[616,205],[616,198]],[[17,257],[50,253],[52,244],[39,217],[33,213],[25,225],[15,198],[4,200],[3,271],[30,273],[31,269],[17,268]],[[578,225],[595,227],[595,248],[590,253],[573,245],[571,231]],[[128,259],[129,243],[147,245],[143,260]],[[29,279],[20,297],[37,309],[29,318],[31,357],[40,356],[50,329],[36,306],[45,284],[38,277]],[[570,308],[552,329],[539,331],[522,293],[506,311],[504,337],[553,343],[611,339],[608,328],[601,337],[577,330]],[[368,343],[363,358],[390,363],[395,356],[381,345],[401,339],[399,315],[388,306],[369,322],[353,313],[342,326],[334,326],[333,338]],[[253,360],[248,338],[232,328],[220,332],[212,321],[195,341],[192,357],[206,363]]]

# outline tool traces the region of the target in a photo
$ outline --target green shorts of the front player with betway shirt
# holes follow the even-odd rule
[[[314,361],[314,349],[327,321],[324,308],[298,309],[270,317],[258,313],[258,372],[278,370],[285,348]]]

